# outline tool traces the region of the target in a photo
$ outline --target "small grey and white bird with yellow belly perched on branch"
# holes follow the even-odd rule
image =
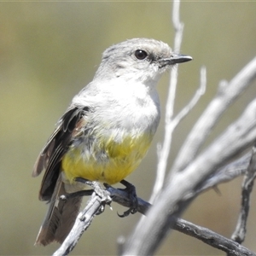
[[[147,38],[104,51],[94,79],[73,97],[34,166],[33,177],[44,171],[39,199],[49,201],[36,244],[67,237],[82,198],[59,198],[84,189],[78,178],[119,183],[137,168],[160,122],[161,74],[191,60]]]

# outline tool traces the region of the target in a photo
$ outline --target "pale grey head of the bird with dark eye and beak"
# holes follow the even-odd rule
[[[157,81],[168,67],[191,61],[188,55],[177,55],[163,42],[133,38],[114,44],[103,52],[95,79],[133,79],[147,83]]]

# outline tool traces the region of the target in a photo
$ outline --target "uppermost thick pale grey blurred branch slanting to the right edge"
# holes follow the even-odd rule
[[[181,171],[191,160],[195,159],[195,155],[220,116],[232,102],[235,102],[237,96],[240,96],[241,93],[247,89],[251,81],[255,79],[255,69],[256,58],[250,61],[240,73],[237,73],[230,83],[223,81],[219,84],[217,96],[210,102],[192,131],[190,131],[189,137],[177,156],[173,171]]]

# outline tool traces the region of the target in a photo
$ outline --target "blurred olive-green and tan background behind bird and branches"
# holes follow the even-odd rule
[[[34,247],[47,206],[38,201],[42,176],[32,167],[57,119],[73,96],[88,84],[102,51],[127,38],[155,38],[172,46],[171,2],[33,2],[0,3],[0,254],[50,255],[57,244]],[[174,133],[169,168],[195,120],[215,95],[220,79],[232,79],[256,55],[256,3],[182,2],[181,52],[194,61],[179,67],[176,113],[193,96],[202,65],[207,67],[207,92]],[[159,84],[165,114],[169,74]],[[207,143],[235,120],[256,94],[252,84],[224,114]],[[157,164],[156,143],[164,135],[164,118],[143,164],[128,180],[148,200]],[[207,144],[206,144],[207,145]],[[240,208],[241,180],[200,195],[183,218],[230,237]],[[256,194],[244,245],[256,251]],[[95,218],[72,255],[113,255],[119,236],[129,236],[139,214],[119,218],[125,209]],[[173,231],[158,255],[224,255]]]

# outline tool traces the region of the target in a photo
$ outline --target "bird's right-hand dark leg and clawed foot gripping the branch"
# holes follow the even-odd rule
[[[128,216],[130,213],[134,214],[137,212],[138,201],[135,186],[125,181],[125,179],[121,180],[120,183],[125,185],[125,189],[120,190],[125,191],[129,195],[131,201],[131,207],[127,211],[125,211],[123,214],[118,213],[119,217],[124,218]]]

